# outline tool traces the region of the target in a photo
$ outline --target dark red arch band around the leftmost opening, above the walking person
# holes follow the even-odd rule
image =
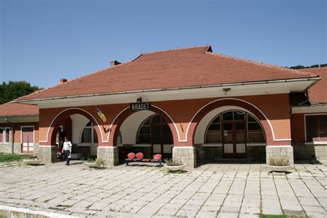
[[[103,144],[103,139],[102,139],[102,132],[99,128],[99,123],[97,123],[97,120],[95,117],[93,117],[90,112],[87,110],[81,109],[81,108],[69,108],[66,110],[61,111],[53,120],[52,123],[50,124],[49,130],[48,130],[48,135],[47,135],[47,141],[50,143],[50,145],[54,145],[56,143],[56,136],[57,136],[57,131],[59,130],[59,126],[63,121],[65,121],[68,117],[71,115],[83,115],[84,117],[88,118],[91,123],[93,124],[95,131],[97,132],[97,136],[99,140],[99,145]],[[50,140],[50,141],[49,141]]]

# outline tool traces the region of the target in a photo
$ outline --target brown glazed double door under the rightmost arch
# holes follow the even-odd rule
[[[246,157],[246,120],[223,119],[221,122],[224,157]]]

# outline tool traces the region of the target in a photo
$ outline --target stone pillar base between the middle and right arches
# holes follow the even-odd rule
[[[178,147],[172,148],[172,159],[179,160],[186,164],[186,168],[196,168],[197,167],[197,155],[195,147]]]

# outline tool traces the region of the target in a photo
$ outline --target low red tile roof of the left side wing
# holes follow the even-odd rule
[[[39,115],[39,107],[21,103],[4,103],[0,105],[0,117],[24,117]]]

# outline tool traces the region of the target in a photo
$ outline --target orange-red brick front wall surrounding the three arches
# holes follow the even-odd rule
[[[244,101],[248,101],[249,103],[255,105],[259,110],[264,112],[266,117],[270,120],[271,125],[273,126],[273,130],[275,131],[275,139],[290,139],[290,110],[289,110],[289,99],[288,94],[279,94],[279,95],[257,95],[257,96],[246,96],[246,97],[232,97],[233,99],[241,99]],[[210,99],[191,99],[191,100],[176,100],[176,101],[156,101],[152,102],[153,106],[157,106],[164,110],[168,115],[175,121],[175,125],[177,131],[179,133],[180,140],[186,140],[186,131],[188,130],[188,124],[195,114],[199,111],[200,108],[205,106],[207,103],[211,101],[215,101],[217,98]],[[113,104],[113,105],[105,105],[98,106],[99,109],[106,115],[107,121],[104,123],[103,127],[101,126],[100,130],[103,134],[103,140],[106,141],[108,139],[109,128],[112,121],[119,115],[119,113],[128,108],[128,104]],[[83,106],[79,107],[83,110],[86,110],[95,117],[96,121],[100,124],[101,121],[97,115],[95,110],[95,106]],[[40,109],[40,128],[39,128],[39,139],[40,141],[46,141],[48,128],[50,123],[59,115],[59,113],[63,112],[67,108],[50,108],[50,109]],[[66,110],[63,112],[57,119],[59,119],[62,115],[68,115],[71,110]],[[77,110],[76,110],[77,111]],[[75,112],[76,112],[75,111]],[[159,110],[158,110],[159,111]],[[159,113],[159,112],[158,112]],[[165,115],[164,112],[161,112],[160,115]],[[122,117],[126,118],[126,117]],[[118,117],[119,120],[119,117]],[[120,119],[121,123],[124,119]],[[168,120],[167,120],[168,121]],[[169,123],[170,121],[168,121]],[[55,122],[54,122],[55,123]],[[192,142],[192,134],[194,132],[188,132],[188,139],[186,142],[178,141],[177,131],[175,126],[170,123],[170,128],[172,128],[172,134],[174,137],[174,145],[175,146],[193,146]],[[117,134],[115,127],[119,125],[119,123],[115,123],[112,126],[112,131],[110,132],[110,139],[114,139],[114,135]],[[270,145],[288,145],[290,141],[273,141],[270,130],[268,131],[268,124],[266,125],[266,136],[267,139],[271,139],[269,142]],[[50,136],[49,136],[50,137]],[[101,139],[101,137],[99,137]],[[113,146],[115,145],[115,141],[110,141],[109,143],[101,142],[99,140],[99,144],[102,146]],[[50,138],[46,143],[42,143],[43,145],[50,145]]]

